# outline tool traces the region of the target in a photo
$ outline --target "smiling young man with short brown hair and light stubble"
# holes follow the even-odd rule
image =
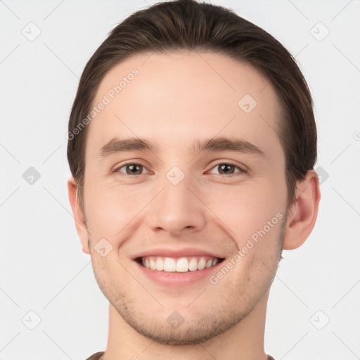
[[[320,200],[290,53],[219,6],[138,11],[87,63],[68,139],[75,225],[110,302],[89,359],[272,359],[269,289]]]

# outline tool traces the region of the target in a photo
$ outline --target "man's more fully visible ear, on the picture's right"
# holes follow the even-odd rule
[[[283,249],[299,248],[314,229],[320,201],[319,176],[309,170],[303,181],[297,184],[296,201],[290,206],[286,221]]]

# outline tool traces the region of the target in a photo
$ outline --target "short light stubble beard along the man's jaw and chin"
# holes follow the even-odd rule
[[[210,304],[205,304],[202,307],[203,309],[207,309],[207,311],[203,314],[197,314],[196,317],[187,316],[183,311],[183,314],[185,315],[184,323],[176,329],[172,328],[172,326],[169,326],[169,323],[167,323],[167,316],[176,309],[162,309],[163,314],[161,316],[154,317],[152,316],[153,311],[150,311],[151,314],[149,314],[148,311],[144,311],[141,308],[141,304],[139,304],[139,297],[134,297],[134,295],[127,293],[121,285],[114,288],[114,284],[109,280],[109,277],[104,276],[103,272],[97,271],[97,269],[102,268],[103,270],[104,268],[101,264],[94,265],[94,257],[96,257],[97,254],[94,254],[94,250],[91,250],[91,243],[93,243],[93,241],[91,240],[91,233],[87,224],[86,229],[88,229],[89,249],[91,252],[91,259],[93,260],[92,266],[96,281],[103,292],[103,295],[107,297],[110,304],[112,304],[118,314],[122,316],[122,319],[124,319],[124,321],[126,321],[129,326],[134,328],[134,330],[136,330],[139,334],[145,336],[146,338],[150,338],[154,342],[164,345],[198,345],[216,337],[217,335],[220,335],[221,333],[225,333],[227,330],[239,324],[250,314],[259,300],[265,295],[266,291],[269,290],[274,281],[274,277],[278,269],[278,263],[282,259],[281,255],[283,250],[283,235],[286,219],[287,216],[283,219],[281,230],[278,234],[278,247],[276,248],[276,252],[274,254],[275,256],[273,255],[271,257],[271,269],[269,266],[266,266],[261,259],[255,259],[255,261],[257,261],[257,265],[252,265],[252,269],[255,269],[255,271],[259,269],[259,266],[260,268],[262,266],[262,276],[257,277],[258,280],[260,279],[259,283],[256,284],[259,285],[257,286],[257,293],[255,295],[247,294],[247,297],[244,297],[235,290],[232,290],[229,295],[226,295],[226,299],[233,299],[231,302],[212,304],[210,300]],[[250,270],[251,269],[249,269],[249,271]],[[129,277],[130,275],[128,278]],[[250,279],[250,277],[251,274],[249,274],[248,279]],[[131,279],[131,281],[134,280]],[[234,288],[236,289],[244,289],[246,285],[244,283],[244,279],[243,283],[236,284],[236,280],[233,283]],[[210,288],[210,286],[213,285],[207,286],[210,291],[217,291],[216,288]],[[204,298],[206,297],[203,297],[203,299]],[[180,314],[181,311],[182,310],[179,310]]]

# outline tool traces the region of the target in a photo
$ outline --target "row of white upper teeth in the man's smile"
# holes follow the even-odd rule
[[[143,266],[151,270],[181,272],[203,270],[219,262],[217,257],[142,257]]]

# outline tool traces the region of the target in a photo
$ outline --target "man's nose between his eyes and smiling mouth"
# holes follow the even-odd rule
[[[198,187],[187,177],[177,185],[165,179],[162,191],[151,202],[147,221],[153,231],[164,231],[179,236],[189,231],[200,231],[205,226],[207,207],[201,201]]]

